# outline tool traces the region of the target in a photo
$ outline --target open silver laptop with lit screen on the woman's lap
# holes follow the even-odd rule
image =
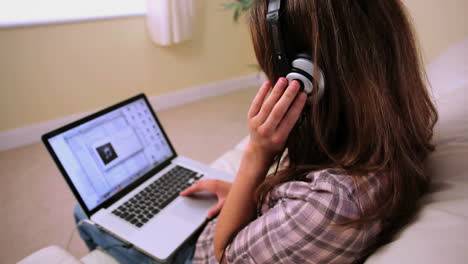
[[[144,94],[42,136],[90,220],[159,261],[206,221],[213,196],[181,197],[198,179],[233,176],[178,156]]]

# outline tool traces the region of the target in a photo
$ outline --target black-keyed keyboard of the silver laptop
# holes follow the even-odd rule
[[[187,168],[176,166],[145,189],[112,211],[113,214],[136,227],[142,227],[179,193],[203,175]]]

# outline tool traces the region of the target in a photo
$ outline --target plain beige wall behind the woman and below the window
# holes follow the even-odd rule
[[[403,0],[426,62],[468,36],[468,1]],[[197,33],[170,48],[143,17],[0,29],[0,131],[252,73],[246,28],[222,1],[196,1]]]

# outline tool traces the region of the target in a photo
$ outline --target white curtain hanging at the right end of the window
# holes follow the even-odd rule
[[[193,35],[194,0],[147,0],[147,25],[151,39],[169,46]]]

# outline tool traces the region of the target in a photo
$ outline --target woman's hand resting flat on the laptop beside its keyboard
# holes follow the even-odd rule
[[[210,192],[216,195],[218,203],[208,212],[207,218],[216,216],[224,205],[224,200],[231,189],[231,183],[221,180],[199,180],[195,181],[190,187],[180,192],[181,196],[189,196],[197,192]]]

